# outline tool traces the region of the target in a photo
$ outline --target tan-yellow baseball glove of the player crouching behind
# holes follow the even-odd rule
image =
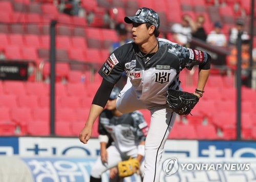
[[[140,168],[140,162],[136,158],[130,157],[129,160],[121,161],[117,165],[120,177],[131,176]]]

